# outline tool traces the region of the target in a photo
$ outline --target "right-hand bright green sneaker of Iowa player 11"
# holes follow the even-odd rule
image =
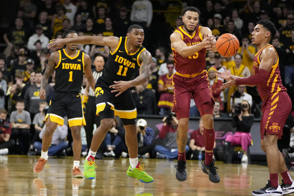
[[[153,178],[150,175],[148,175],[145,171],[143,171],[145,170],[143,169],[144,165],[140,165],[140,167],[139,165],[140,162],[135,168],[132,168],[130,165],[128,170],[126,171],[126,175],[133,178],[137,178],[142,183],[152,183],[154,181]]]

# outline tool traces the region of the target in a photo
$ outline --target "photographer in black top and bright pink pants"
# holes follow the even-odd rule
[[[241,162],[248,162],[247,148],[251,145],[250,129],[254,123],[254,115],[251,114],[250,104],[243,100],[241,106],[235,105],[232,119],[232,127],[236,127],[234,135],[228,135],[225,139],[224,149],[228,151],[229,146],[241,145],[243,156]]]

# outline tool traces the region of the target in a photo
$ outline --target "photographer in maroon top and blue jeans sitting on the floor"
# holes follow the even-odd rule
[[[176,141],[176,131],[178,129],[178,120],[175,113],[171,111],[168,116],[162,119],[163,126],[159,131],[159,138],[165,139],[163,145],[156,145],[154,150],[156,158],[173,159],[178,157],[178,145]],[[185,147],[186,152],[189,151],[189,146]]]

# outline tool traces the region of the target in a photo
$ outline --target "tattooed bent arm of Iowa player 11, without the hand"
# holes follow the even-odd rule
[[[151,59],[151,54],[146,50],[139,56],[139,61],[141,61],[140,75],[131,81],[131,86],[144,84],[148,80]]]

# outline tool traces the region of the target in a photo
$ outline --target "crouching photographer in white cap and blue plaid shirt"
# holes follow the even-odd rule
[[[153,158],[151,145],[154,139],[154,131],[147,126],[147,121],[139,119],[137,121],[138,155],[142,158]]]

